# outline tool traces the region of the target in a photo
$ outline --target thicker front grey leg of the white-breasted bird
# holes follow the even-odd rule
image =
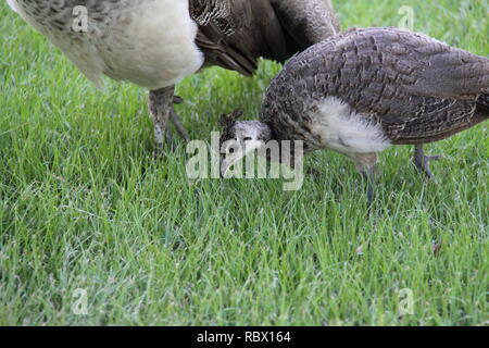
[[[158,156],[163,154],[164,137],[167,130],[168,119],[173,111],[174,91],[174,86],[150,90],[149,109],[153,116],[154,153]]]

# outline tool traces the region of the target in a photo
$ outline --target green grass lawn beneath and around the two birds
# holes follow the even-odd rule
[[[397,26],[402,5],[415,30],[489,54],[487,0],[336,1],[344,28]],[[427,147],[447,157],[436,184],[411,147],[386,151],[371,215],[354,165],[328,151],[308,157],[319,175],[296,192],[189,182],[183,141],[152,158],[147,90],[98,91],[5,1],[0,29],[0,324],[488,323],[487,123]],[[191,137],[235,108],[254,117],[279,69],[187,78]]]

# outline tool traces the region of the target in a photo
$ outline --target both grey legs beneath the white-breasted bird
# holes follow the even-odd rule
[[[175,86],[150,90],[149,109],[154,125],[154,153],[163,154],[164,139],[172,142],[172,133],[168,128],[168,120],[175,124],[178,134],[188,140],[188,134],[181,125],[179,116],[174,110],[174,103],[181,103],[181,98],[174,96]]]

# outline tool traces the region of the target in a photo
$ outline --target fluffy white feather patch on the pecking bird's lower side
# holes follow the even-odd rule
[[[311,132],[331,150],[353,156],[380,152],[390,146],[379,124],[369,123],[339,98],[327,97],[310,116]]]

